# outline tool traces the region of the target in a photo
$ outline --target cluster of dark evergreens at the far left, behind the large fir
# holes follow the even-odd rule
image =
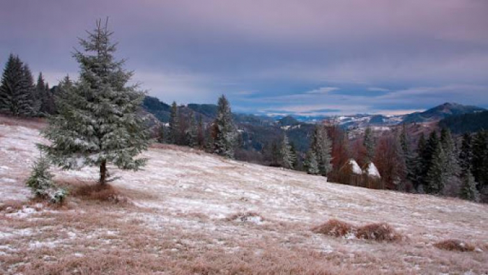
[[[20,117],[56,113],[54,93],[56,88],[49,88],[42,73],[35,83],[29,65],[10,54],[1,76],[0,113]]]

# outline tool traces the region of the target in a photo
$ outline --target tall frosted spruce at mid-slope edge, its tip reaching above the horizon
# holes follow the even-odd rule
[[[213,150],[216,154],[234,158],[234,146],[236,142],[236,128],[232,121],[232,113],[229,101],[222,95],[217,104],[217,118],[215,125],[215,139]]]

